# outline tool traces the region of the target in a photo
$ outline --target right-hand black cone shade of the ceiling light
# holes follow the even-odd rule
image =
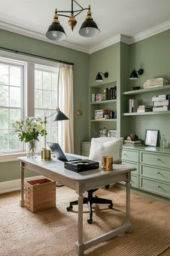
[[[93,19],[86,19],[79,30],[79,34],[86,37],[90,38],[95,35],[99,35],[100,30],[97,27],[97,23],[94,22]]]

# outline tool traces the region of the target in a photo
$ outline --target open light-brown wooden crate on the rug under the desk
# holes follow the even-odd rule
[[[35,179],[24,183],[25,207],[37,213],[55,207],[55,182],[50,179]]]

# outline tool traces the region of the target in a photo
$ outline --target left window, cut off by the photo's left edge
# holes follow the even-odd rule
[[[12,123],[23,117],[24,63],[0,59],[0,153],[23,150]]]

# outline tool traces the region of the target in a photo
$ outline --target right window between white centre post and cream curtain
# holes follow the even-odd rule
[[[48,117],[58,106],[58,68],[35,65],[35,116]],[[53,116],[47,118],[47,141],[58,141],[58,122]],[[40,137],[38,149],[44,148],[44,138]]]

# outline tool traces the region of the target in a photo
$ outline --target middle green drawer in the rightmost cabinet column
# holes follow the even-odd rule
[[[163,182],[170,182],[170,169],[156,168],[153,166],[140,165],[140,175],[148,178],[158,179]]]

